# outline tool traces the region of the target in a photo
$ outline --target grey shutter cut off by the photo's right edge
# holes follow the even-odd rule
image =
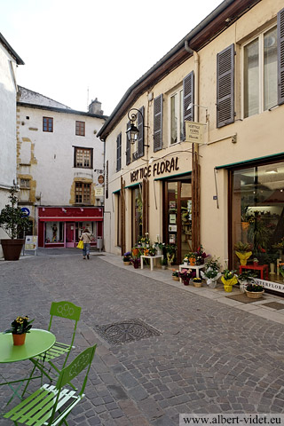
[[[284,104],[284,9],[277,14],[278,105]]]

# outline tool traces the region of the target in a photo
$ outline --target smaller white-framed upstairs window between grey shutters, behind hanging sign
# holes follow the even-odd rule
[[[169,134],[170,145],[181,142],[184,138],[184,107],[183,89],[178,89],[169,95]]]

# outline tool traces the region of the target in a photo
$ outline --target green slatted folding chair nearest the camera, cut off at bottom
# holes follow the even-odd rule
[[[71,410],[83,399],[84,390],[91,368],[91,361],[94,358],[97,345],[85,349],[78,355],[69,366],[60,372],[56,385],[44,384],[28,398],[20,402],[7,414],[5,419],[10,419],[15,425],[23,423],[26,425],[59,425],[68,426],[66,417]],[[85,368],[86,375],[83,378],[82,389],[79,392],[69,390],[66,385],[70,383]]]

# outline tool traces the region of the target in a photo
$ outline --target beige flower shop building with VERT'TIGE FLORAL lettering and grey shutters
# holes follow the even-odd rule
[[[148,234],[177,246],[177,264],[202,244],[239,271],[241,241],[284,292],[283,58],[283,2],[226,1],[130,86],[99,130],[107,251]]]

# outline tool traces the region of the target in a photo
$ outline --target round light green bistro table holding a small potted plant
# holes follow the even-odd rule
[[[24,361],[25,359],[30,359],[33,361],[33,357],[36,355],[40,355],[41,353],[48,351],[51,346],[56,341],[55,335],[52,335],[50,331],[41,330],[37,328],[33,328],[30,330],[30,333],[26,335],[26,342],[21,346],[14,346],[12,343],[12,334],[0,334],[0,364],[3,363],[11,363],[11,362],[19,362]],[[23,382],[29,381],[39,378],[41,376],[27,377],[21,378],[19,380],[6,381],[4,377],[4,383],[0,383],[0,386],[4,384],[8,384],[13,391],[12,398],[17,395],[20,399],[20,395],[18,394],[18,390]],[[17,389],[12,387],[12,383],[20,383],[20,386]],[[27,384],[28,384],[27,383]],[[27,389],[27,386],[25,390]],[[12,398],[8,401],[7,405],[12,401]]]

